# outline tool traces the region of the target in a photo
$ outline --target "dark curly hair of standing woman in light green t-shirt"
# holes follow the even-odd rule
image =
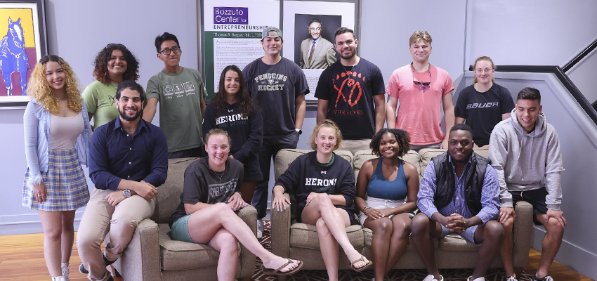
[[[93,65],[95,66],[93,68],[93,77],[105,85],[110,85],[111,80],[110,76],[107,74],[107,63],[110,61],[112,51],[114,50],[122,51],[124,60],[126,60],[126,71],[122,75],[122,81],[137,81],[137,79],[139,79],[139,60],[137,60],[135,55],[133,55],[133,53],[131,53],[131,51],[129,51],[123,44],[107,44],[107,46],[96,55],[95,60],[93,60]]]

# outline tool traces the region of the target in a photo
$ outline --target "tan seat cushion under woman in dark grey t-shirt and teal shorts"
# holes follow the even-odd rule
[[[159,259],[162,270],[189,270],[218,265],[220,252],[214,248],[204,244],[172,240],[167,223],[160,223],[158,227]]]

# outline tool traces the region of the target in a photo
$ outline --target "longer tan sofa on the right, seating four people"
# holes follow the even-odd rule
[[[278,152],[275,161],[275,178],[278,178],[289,164],[299,155],[306,154],[310,150],[282,150]],[[435,157],[445,152],[440,149],[423,149],[419,153],[409,151],[407,155],[402,157],[406,162],[410,162],[416,166],[419,171],[419,177],[422,178],[425,167],[431,161],[431,157]],[[487,149],[475,150],[479,155],[487,157]],[[375,158],[370,150],[362,150],[356,155],[350,152],[337,150],[337,155],[347,159],[353,164],[355,176],[358,176],[360,166],[362,166],[368,159]],[[287,193],[284,194],[291,199]],[[295,206],[296,204],[291,204]],[[320,253],[319,240],[317,238],[317,229],[315,226],[307,225],[305,223],[296,223],[294,218],[294,209],[291,208],[284,211],[272,211],[272,250],[274,254],[279,256],[289,256],[291,259],[298,259],[305,262],[303,269],[318,269],[324,270],[324,262]],[[516,221],[514,223],[514,268],[517,274],[527,264],[530,238],[532,230],[532,206],[527,202],[518,202],[516,205]],[[349,226],[346,228],[350,243],[353,244],[357,251],[361,251],[367,259],[372,259],[371,243],[373,240],[373,231],[369,228],[362,228],[361,226]],[[477,261],[479,247],[475,244],[464,240],[459,235],[447,235],[447,237],[435,240],[435,261],[439,268],[474,268]],[[340,254],[339,261],[340,269],[350,269],[348,266],[348,259],[346,255]],[[493,268],[502,267],[499,256],[491,265]],[[423,262],[416,253],[414,244],[409,241],[407,250],[393,268],[425,268]],[[283,278],[279,278],[283,279]]]

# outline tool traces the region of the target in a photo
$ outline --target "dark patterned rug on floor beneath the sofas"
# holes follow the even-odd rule
[[[271,250],[272,239],[270,232],[270,221],[263,221],[265,224],[265,231],[263,237],[259,242],[265,249]],[[440,274],[444,277],[445,281],[466,281],[468,276],[473,275],[473,269],[440,269]],[[421,281],[427,276],[427,270],[416,270],[416,269],[396,269],[390,271],[386,275],[386,280],[395,281]],[[339,270],[340,281],[369,281],[374,277],[373,270],[364,270],[357,273],[353,270]],[[255,274],[251,278],[252,280],[258,281],[275,281],[274,275],[263,274],[263,263],[257,258],[255,264]],[[291,275],[287,280],[292,281],[319,281],[327,280],[327,272],[325,270],[300,270],[295,275]],[[504,281],[506,275],[504,270],[499,268],[490,269],[485,276],[487,281]],[[523,276],[518,278],[519,281],[530,281],[531,275],[523,272]]]

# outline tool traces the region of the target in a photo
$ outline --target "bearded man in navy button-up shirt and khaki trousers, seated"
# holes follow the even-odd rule
[[[157,187],[166,181],[166,137],[140,118],[142,93],[135,81],[120,82],[115,96],[120,116],[96,129],[89,145],[89,177],[96,188],[77,233],[79,270],[89,280],[112,280],[106,266],[122,255],[137,224],[153,214]]]

